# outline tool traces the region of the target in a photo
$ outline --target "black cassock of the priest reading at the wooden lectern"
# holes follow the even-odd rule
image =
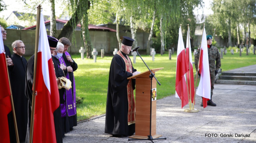
[[[126,57],[123,52],[122,54]],[[137,70],[132,67],[132,73],[135,71]],[[128,125],[127,118],[127,78],[132,73],[126,71],[122,57],[115,54],[109,70],[105,133],[130,136],[135,132],[135,124]],[[132,86],[135,89],[135,79],[132,80]]]

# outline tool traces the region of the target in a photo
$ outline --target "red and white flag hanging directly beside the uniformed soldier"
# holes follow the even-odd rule
[[[211,99],[211,78],[205,28],[203,31],[199,59],[200,61],[198,62],[198,70],[199,73],[201,74],[201,78],[196,94],[203,97],[203,105],[205,108],[207,106],[207,100]]]

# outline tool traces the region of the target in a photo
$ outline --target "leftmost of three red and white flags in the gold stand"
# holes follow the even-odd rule
[[[186,60],[185,47],[182,39],[181,28],[179,29],[179,40],[177,49],[176,63],[176,84],[175,97],[180,98],[181,108],[188,104],[188,89],[186,85],[185,74],[188,72],[188,64]]]

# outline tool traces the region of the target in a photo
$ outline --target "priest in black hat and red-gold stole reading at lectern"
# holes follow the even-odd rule
[[[121,49],[111,61],[108,78],[105,133],[113,137],[127,137],[135,132],[135,79],[127,78],[140,72],[132,67],[131,59],[127,56],[134,40],[123,38]]]

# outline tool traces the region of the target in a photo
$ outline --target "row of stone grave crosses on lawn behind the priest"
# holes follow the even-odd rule
[[[174,48],[172,48],[172,50],[174,50]],[[169,49],[169,60],[172,59],[172,54],[173,54],[172,50]],[[156,54],[155,48],[150,48],[150,51],[151,51],[150,56],[152,56],[152,61],[155,61],[155,54]],[[117,48],[115,48],[113,55],[115,55],[117,52],[118,52]],[[81,59],[84,59],[85,49],[83,47],[81,47],[81,49],[79,50],[79,53],[81,53]],[[98,55],[96,48],[93,48],[92,55],[93,55],[93,61],[96,62],[97,55]],[[137,52],[132,52],[133,63],[136,63],[136,55],[137,55]],[[101,49],[101,58],[103,57],[104,57],[104,49]]]

